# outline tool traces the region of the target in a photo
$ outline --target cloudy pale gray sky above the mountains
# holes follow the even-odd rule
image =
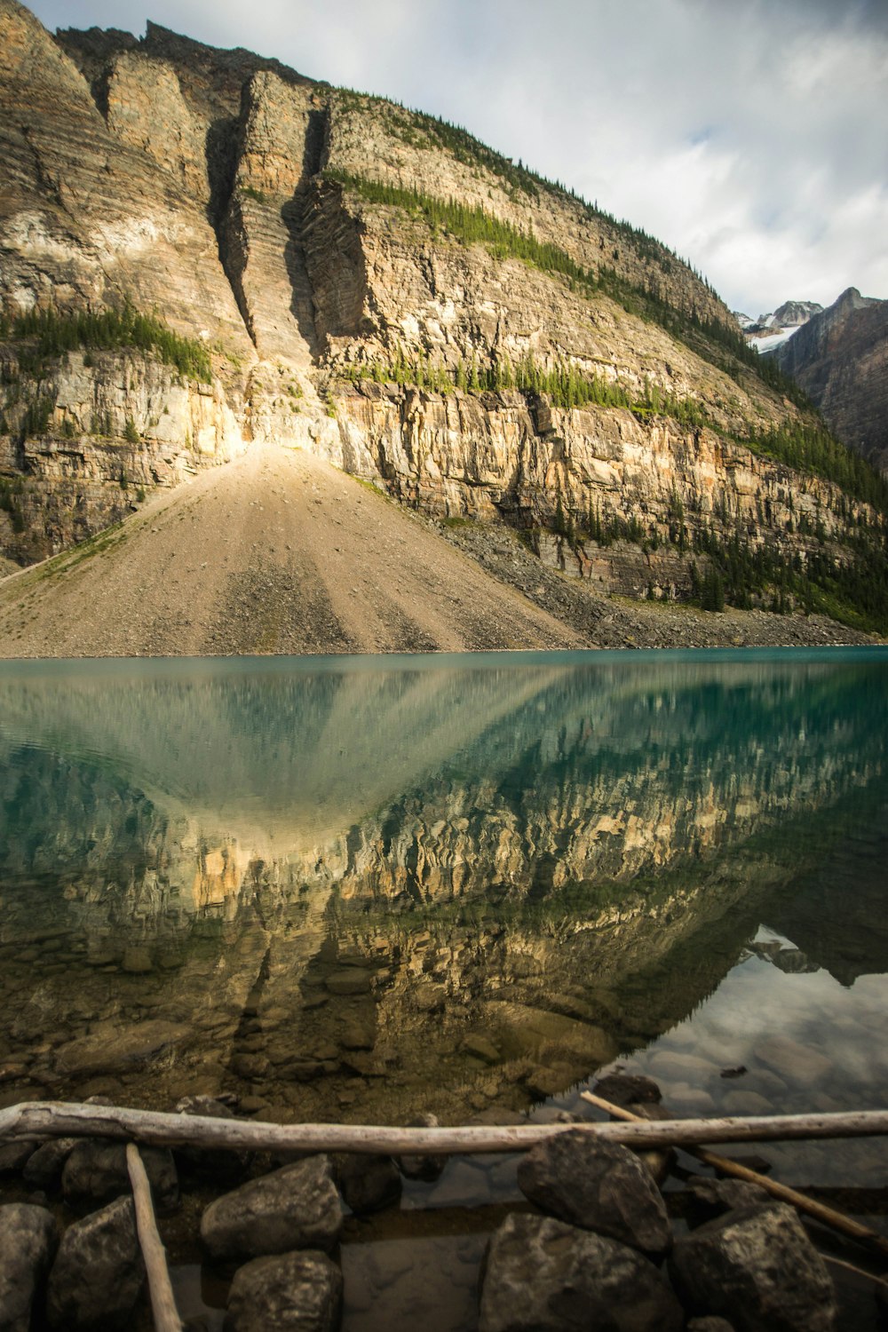
[[[888,297],[888,0],[33,0],[153,19],[466,125],[751,316]]]

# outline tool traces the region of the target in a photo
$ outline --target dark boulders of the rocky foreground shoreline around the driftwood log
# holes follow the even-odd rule
[[[642,1118],[668,1118],[650,1078],[610,1074],[595,1091]],[[233,1115],[208,1096],[176,1108]],[[417,1123],[433,1127],[434,1116]],[[447,1167],[435,1156],[294,1155],[141,1150],[168,1248],[190,1228],[192,1247],[228,1287],[224,1324],[208,1309],[185,1317],[189,1332],[334,1332],[349,1295],[345,1231],[395,1212],[409,1181],[434,1185]],[[23,1199],[0,1205],[0,1325],[149,1327],[124,1144],[11,1143],[0,1173]],[[884,1283],[873,1280],[868,1321],[848,1321],[847,1292],[791,1207],[755,1184],[688,1172],[674,1152],[636,1154],[566,1128],[518,1160],[517,1181],[523,1201],[499,1209],[469,1292],[479,1332],[884,1325]],[[421,1215],[401,1213],[407,1224]],[[857,1293],[855,1319],[860,1307]]]

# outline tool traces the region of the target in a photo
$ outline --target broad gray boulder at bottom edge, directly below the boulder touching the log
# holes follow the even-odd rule
[[[513,1213],[490,1240],[479,1332],[679,1332],[684,1315],[635,1249]]]

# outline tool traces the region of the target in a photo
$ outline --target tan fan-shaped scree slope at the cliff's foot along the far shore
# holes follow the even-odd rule
[[[819,617],[611,601],[505,526],[435,523],[282,448],[254,446],[0,582],[3,657],[869,641]]]

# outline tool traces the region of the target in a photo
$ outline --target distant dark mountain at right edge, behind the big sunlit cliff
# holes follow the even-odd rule
[[[837,437],[888,472],[888,301],[849,286],[775,354]]]

